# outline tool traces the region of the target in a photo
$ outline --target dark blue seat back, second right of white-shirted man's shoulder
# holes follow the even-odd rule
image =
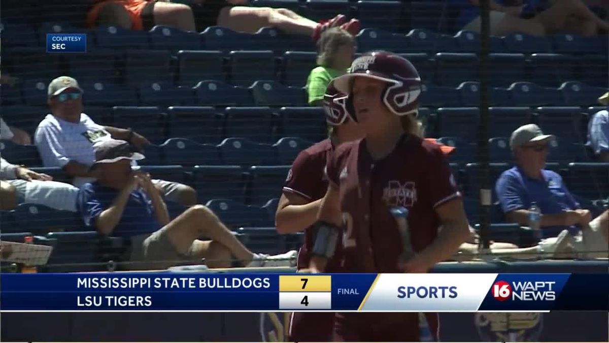
[[[167,137],[213,144],[222,140],[224,114],[214,107],[171,106],[167,108],[167,115]]]

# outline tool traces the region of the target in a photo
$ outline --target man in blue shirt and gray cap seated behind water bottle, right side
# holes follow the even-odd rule
[[[569,193],[560,175],[544,169],[552,139],[554,135],[543,134],[535,124],[523,125],[512,132],[510,147],[516,166],[504,171],[495,187],[505,218],[528,226],[528,209],[535,203],[542,214],[542,248],[551,250],[555,237],[564,236],[562,231],[568,230],[575,237],[577,251],[597,251],[589,256],[607,257],[608,211],[593,220],[590,211],[582,209]]]

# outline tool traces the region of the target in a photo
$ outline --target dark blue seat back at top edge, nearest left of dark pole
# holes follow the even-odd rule
[[[410,1],[409,23],[411,28],[449,32],[449,9],[445,0]]]

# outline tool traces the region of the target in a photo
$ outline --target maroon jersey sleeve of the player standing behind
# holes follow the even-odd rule
[[[301,151],[292,163],[292,168],[287,173],[286,183],[283,186],[284,193],[294,193],[313,201],[317,200],[320,187],[325,190],[323,169],[325,159],[321,156]]]

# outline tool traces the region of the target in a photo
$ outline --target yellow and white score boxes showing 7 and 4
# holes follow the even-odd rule
[[[280,309],[332,309],[330,275],[280,275]]]

